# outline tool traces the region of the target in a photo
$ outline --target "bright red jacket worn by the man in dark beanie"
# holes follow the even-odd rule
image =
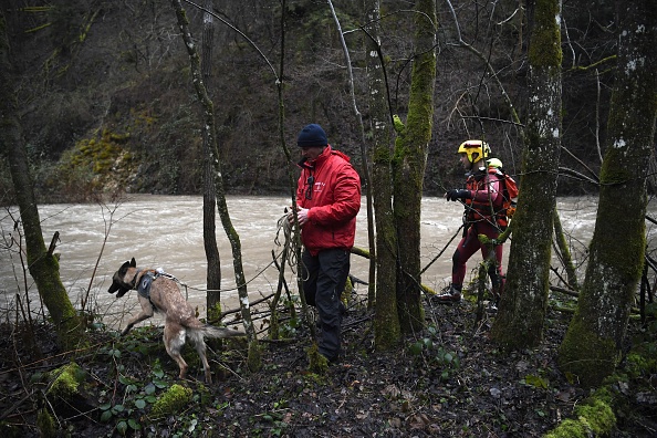
[[[300,163],[296,204],[307,208],[301,240],[312,255],[320,250],[351,250],[361,209],[361,177],[350,157],[326,146],[313,161]]]

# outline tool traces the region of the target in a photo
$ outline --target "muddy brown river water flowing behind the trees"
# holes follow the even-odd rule
[[[278,221],[283,216],[289,199],[284,197],[229,197],[228,208],[233,227],[240,236],[243,270],[250,300],[258,300],[275,291],[278,270],[272,265]],[[358,215],[356,246],[367,248],[367,220],[365,199]],[[593,234],[596,213],[595,198],[560,198],[559,209],[563,227],[574,253],[583,253]],[[650,211],[657,211],[651,204]],[[4,208],[0,213],[0,315],[15,317],[17,294],[24,301],[25,283],[30,307],[40,310],[39,295],[32,279],[23,275],[18,244],[10,248],[17,208]],[[206,257],[202,242],[202,198],[199,196],[129,196],[119,205],[42,205],[39,206],[46,246],[55,231],[60,233],[56,252],[60,253],[62,281],[76,306],[85,300],[91,309],[112,326],[121,325],[129,314],[137,312],[137,300],[131,292],[123,299],[107,293],[112,274],[121,264],[135,258],[139,268],[161,268],[182,283],[182,293],[206,311]],[[430,263],[423,274],[423,282],[440,289],[449,282],[451,254],[458,242],[462,207],[442,198],[424,198],[421,215],[423,267]],[[649,223],[648,223],[649,225]],[[653,230],[649,228],[649,234]],[[217,218],[218,247],[221,257],[222,293],[225,310],[238,305],[231,248],[221,222]],[[282,239],[282,233],[279,234]],[[651,242],[650,242],[651,243]],[[438,259],[436,257],[445,248]],[[505,246],[505,257],[509,244]],[[23,260],[25,258],[23,257]],[[434,262],[431,262],[436,259]],[[470,271],[477,267],[479,255],[471,259]],[[97,263],[97,267],[96,267]],[[368,261],[352,255],[352,274],[367,280]],[[585,267],[582,267],[582,270]],[[294,274],[286,269],[286,280],[295,290]],[[366,293],[359,285],[358,292]]]

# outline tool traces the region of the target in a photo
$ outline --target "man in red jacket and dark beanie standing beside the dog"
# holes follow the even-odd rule
[[[350,252],[361,209],[361,178],[350,157],[328,145],[320,125],[305,126],[296,144],[302,156],[296,215],[304,246],[303,292],[306,303],[314,305],[320,314],[320,354],[328,362],[336,362],[344,312],[340,296],[350,273]]]

